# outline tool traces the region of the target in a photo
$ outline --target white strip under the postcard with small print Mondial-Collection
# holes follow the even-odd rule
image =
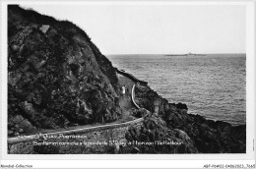
[[[57,168],[203,168],[206,164],[216,164],[216,165],[230,165],[230,164],[242,164],[246,166],[246,164],[255,164],[254,160],[187,160],[186,163],[180,160],[100,160],[97,162],[96,160],[72,160],[72,161],[64,161],[64,160],[50,160],[50,161],[41,161],[41,160],[30,160],[30,163],[23,160],[4,160],[3,163],[5,165],[8,164],[30,164],[33,168],[53,168],[52,166],[57,166]],[[109,167],[111,166],[111,167]]]

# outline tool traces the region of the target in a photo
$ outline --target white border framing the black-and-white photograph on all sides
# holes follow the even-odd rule
[[[246,154],[65,154],[65,155],[17,155],[7,154],[7,4],[59,4],[59,1],[46,1],[46,2],[34,2],[34,1],[3,1],[1,7],[2,20],[1,20],[1,158],[2,159],[243,159],[249,160],[255,158],[255,152],[252,150],[254,130],[255,130],[255,2],[254,1],[234,1],[234,2],[202,2],[202,1],[76,1],[67,2],[61,1],[62,4],[88,4],[88,5],[246,5]],[[99,46],[100,48],[100,46]],[[63,161],[62,161],[63,162]],[[61,163],[62,163],[61,162]],[[171,161],[172,162],[172,161]],[[148,162],[147,162],[148,163]],[[150,164],[150,162],[149,162]],[[153,165],[153,164],[152,164]],[[154,165],[153,165],[154,166]],[[125,166],[126,167],[126,166]],[[128,166],[127,166],[128,167]],[[191,166],[192,167],[192,166]]]

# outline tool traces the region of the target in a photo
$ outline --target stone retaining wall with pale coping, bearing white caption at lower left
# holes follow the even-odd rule
[[[85,129],[47,133],[27,138],[8,139],[10,154],[96,154],[118,153],[127,143],[125,134],[131,125],[140,125],[143,118],[131,122]]]

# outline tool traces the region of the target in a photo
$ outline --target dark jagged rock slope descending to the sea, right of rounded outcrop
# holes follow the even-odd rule
[[[137,103],[152,112],[159,100],[159,116],[171,130],[181,130],[194,142],[201,153],[245,153],[246,126],[231,126],[223,121],[207,120],[200,115],[188,114],[182,103],[168,103],[148,85],[137,85]],[[140,135],[140,134],[139,134]]]

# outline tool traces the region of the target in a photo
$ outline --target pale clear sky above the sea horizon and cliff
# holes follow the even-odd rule
[[[101,53],[245,53],[242,5],[27,4],[84,29]]]

